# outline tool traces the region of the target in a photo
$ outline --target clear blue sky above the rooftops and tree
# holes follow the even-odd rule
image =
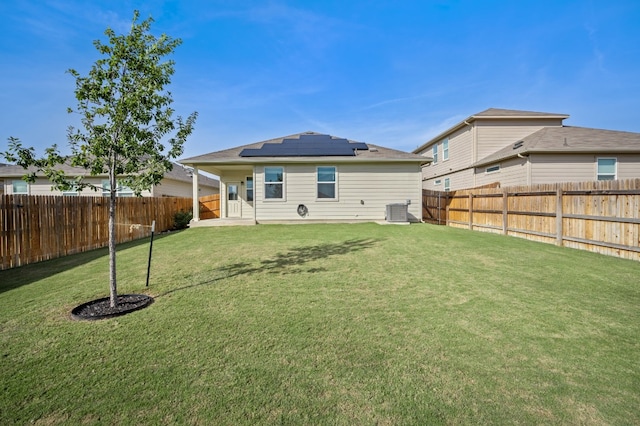
[[[0,151],[77,125],[92,41],[181,38],[174,107],[198,111],[183,157],[317,131],[411,151],[487,108],[640,132],[640,1],[3,1]]]

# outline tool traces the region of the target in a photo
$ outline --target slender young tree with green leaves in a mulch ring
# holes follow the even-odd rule
[[[186,120],[173,118],[171,93],[165,90],[174,73],[174,61],[164,60],[181,44],[162,34],[150,33],[152,18],[139,22],[133,14],[131,30],[116,35],[107,28],[108,44],[95,40],[103,55],[86,77],[76,70],[68,72],[76,79],[75,110],[83,129],[69,127],[67,139],[71,155],[63,157],[53,145],[44,157],[37,158],[33,148],[24,148],[16,138],[9,138],[9,161],[44,173],[58,189],[93,187],[82,177],[70,179],[56,166],[67,161],[83,167],[90,175],[109,176],[109,288],[111,306],[117,299],[116,281],[116,205],[118,186],[127,186],[139,196],[171,170],[171,159],[182,154],[183,145],[193,131],[194,112]],[[174,133],[175,132],[175,133]],[[171,136],[173,134],[173,136]],[[167,138],[165,140],[165,138]],[[165,146],[167,145],[167,146]],[[36,172],[25,176],[35,181]]]

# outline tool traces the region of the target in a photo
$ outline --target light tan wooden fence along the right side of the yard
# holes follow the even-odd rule
[[[640,179],[424,190],[423,220],[640,260]]]

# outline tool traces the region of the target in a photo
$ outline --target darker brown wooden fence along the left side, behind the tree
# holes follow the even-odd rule
[[[173,228],[175,213],[190,211],[191,198],[118,198],[118,243]],[[104,247],[109,203],[103,197],[0,196],[0,269]]]

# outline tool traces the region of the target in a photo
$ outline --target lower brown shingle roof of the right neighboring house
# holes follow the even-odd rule
[[[640,153],[640,133],[587,127],[544,127],[473,164],[480,167],[518,154]]]

